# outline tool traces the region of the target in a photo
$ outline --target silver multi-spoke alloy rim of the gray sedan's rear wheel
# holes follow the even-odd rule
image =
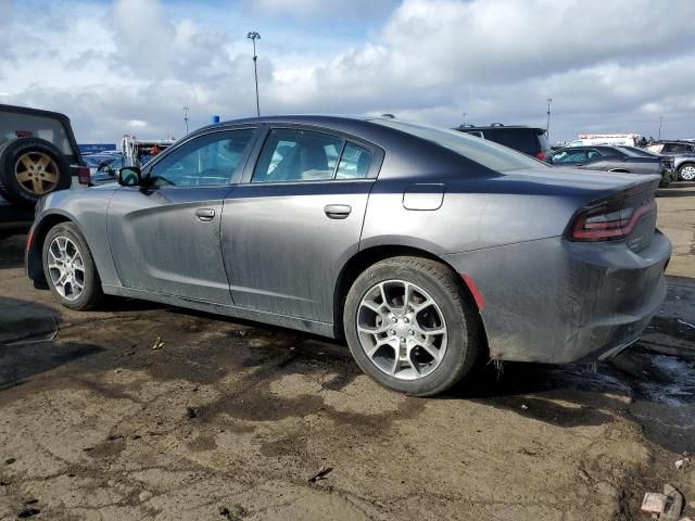
[[[400,380],[430,374],[446,352],[441,308],[425,290],[404,280],[379,282],[365,293],[357,335],[369,360]]]

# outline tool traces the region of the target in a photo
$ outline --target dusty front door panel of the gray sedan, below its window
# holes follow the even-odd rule
[[[231,304],[219,252],[228,192],[229,186],[118,190],[109,207],[109,236],[123,285]]]

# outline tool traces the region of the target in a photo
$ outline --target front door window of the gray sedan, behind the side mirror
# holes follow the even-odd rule
[[[251,142],[254,129],[201,136],[156,163],[150,171],[154,188],[229,185]]]

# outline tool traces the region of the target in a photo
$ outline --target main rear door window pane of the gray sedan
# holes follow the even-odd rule
[[[273,129],[263,145],[251,182],[333,179],[343,145],[343,139],[327,134]]]

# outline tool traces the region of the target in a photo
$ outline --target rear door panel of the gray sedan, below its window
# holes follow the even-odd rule
[[[331,322],[336,280],[358,250],[370,189],[370,180],[236,187],[222,219],[235,304]]]

